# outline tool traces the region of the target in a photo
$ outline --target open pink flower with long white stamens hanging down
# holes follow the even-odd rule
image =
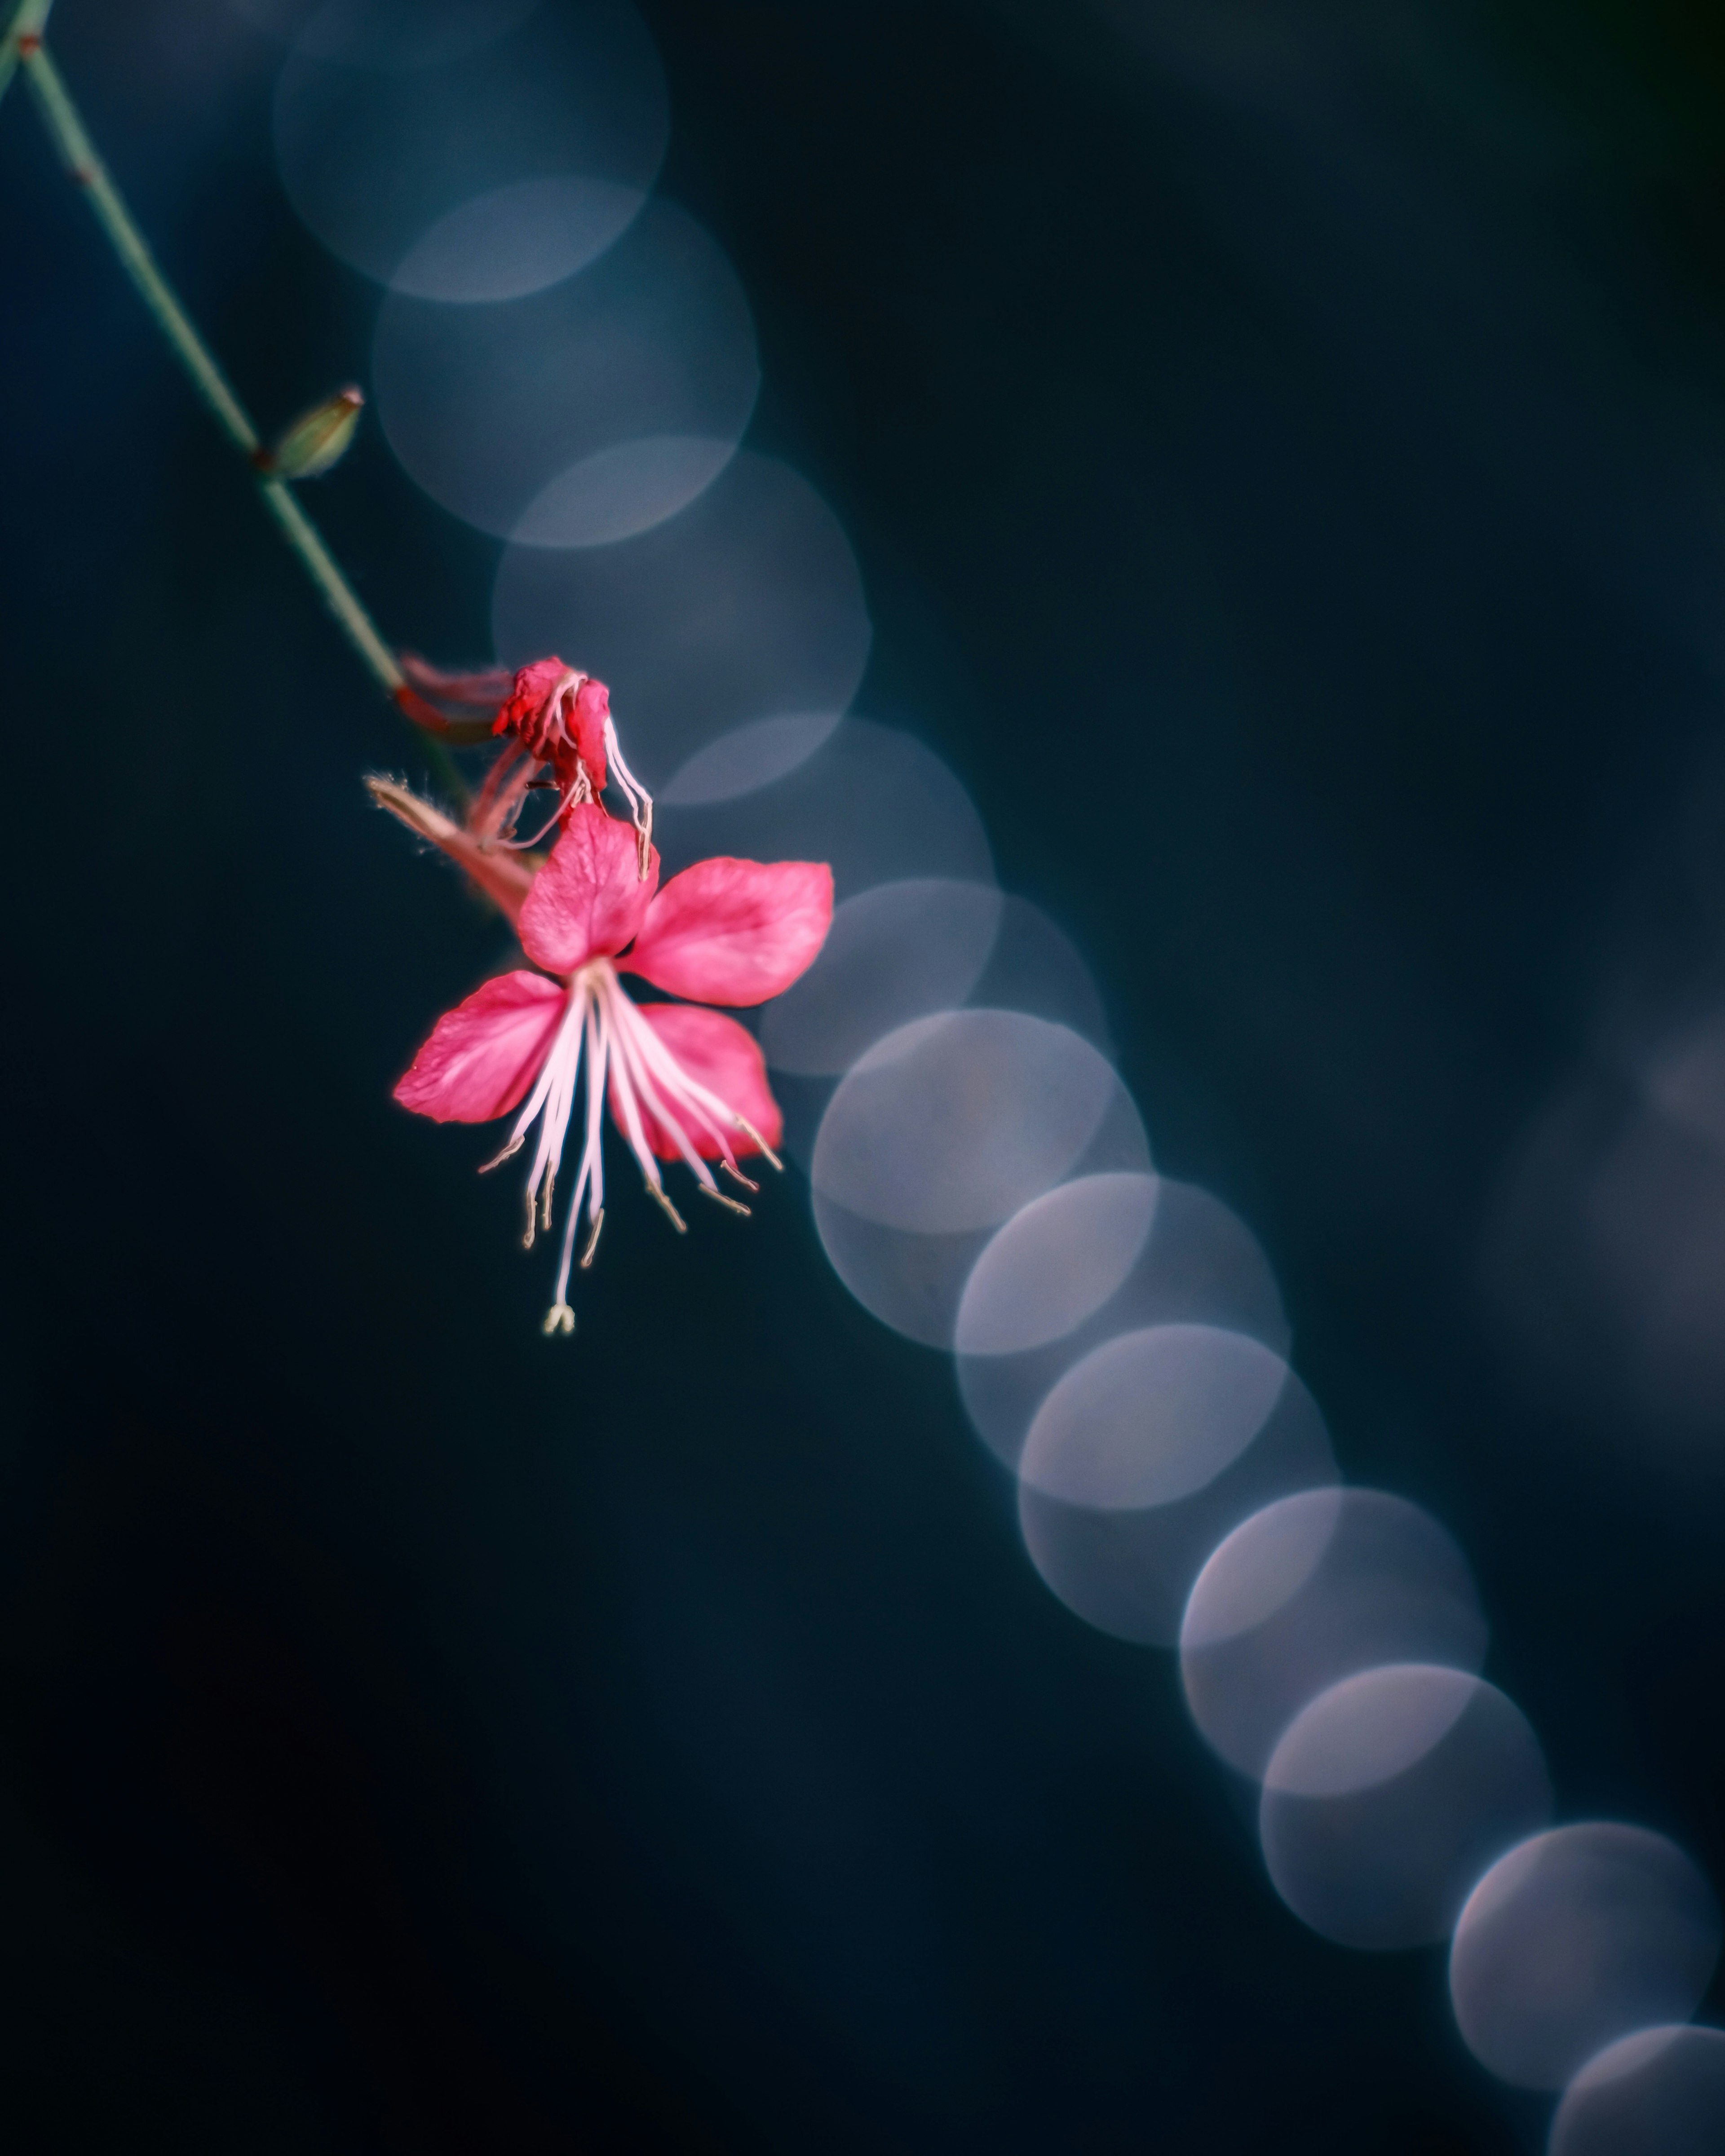
[[[554,686],[548,701],[567,694],[567,683]],[[574,740],[591,722],[591,705],[584,718],[578,696],[574,718],[558,720],[571,724]],[[546,724],[546,705],[535,709],[533,722]],[[543,755],[537,744],[528,746]],[[610,748],[617,768],[615,733]],[[586,763],[584,752],[578,755]],[[403,813],[392,800],[386,806]],[[405,819],[457,852],[448,834],[429,830],[423,817]],[[660,890],[658,852],[638,828],[632,832],[595,800],[567,804],[563,824],[550,860],[520,897],[515,888],[494,890],[515,921],[522,949],[543,970],[507,972],[446,1011],[395,1089],[405,1108],[440,1123],[485,1123],[520,1108],[492,1166],[520,1151],[539,1123],[526,1181],[530,1246],[535,1227],[552,1225],[552,1186],[586,1059],[580,1169],[546,1332],[571,1332],[576,1324],[567,1291],[582,1199],[589,1220],[582,1266],[591,1263],[604,1222],[599,1138],[606,1102],[649,1194],[679,1233],[684,1222],[664,1190],[662,1160],[686,1162],[709,1199],[748,1212],[718,1188],[709,1162],[753,1190],[737,1162],[759,1151],[778,1166],[778,1106],[755,1039],[733,1018],[703,1005],[750,1005],[781,994],[815,959],[832,918],[832,871],[824,862],[701,860]],[[459,828],[451,824],[448,832]],[[483,869],[496,856],[474,847],[474,860]],[[479,875],[472,862],[464,867]],[[526,862],[507,856],[507,869],[522,875]],[[623,972],[690,1000],[634,1003],[619,979]]]

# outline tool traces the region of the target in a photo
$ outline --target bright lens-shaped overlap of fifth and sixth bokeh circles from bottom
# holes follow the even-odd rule
[[[1031,1423],[1020,1479],[1087,1511],[1145,1511],[1212,1483],[1270,1421],[1287,1365],[1218,1326],[1145,1326],[1093,1348]]]

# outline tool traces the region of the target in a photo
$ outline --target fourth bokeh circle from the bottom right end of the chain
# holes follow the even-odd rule
[[[1484,1660],[1466,1559],[1382,1490],[1307,1490],[1253,1514],[1199,1574],[1179,1628],[1192,1720],[1259,1781],[1296,1714],[1341,1677],[1386,1662],[1475,1675]]]

